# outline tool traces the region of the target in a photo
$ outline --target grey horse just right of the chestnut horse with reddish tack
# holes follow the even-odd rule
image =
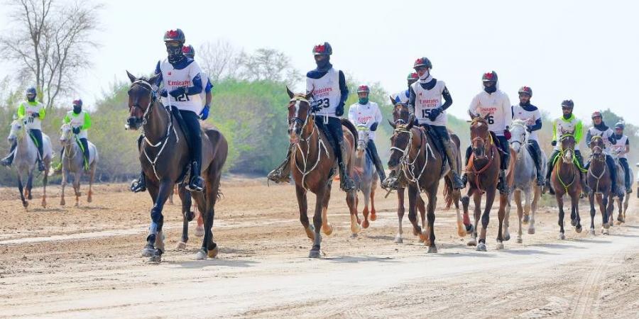
[[[506,208],[506,223],[510,220],[510,201],[513,196],[515,197],[515,204],[517,205],[517,216],[519,220],[519,228],[517,231],[516,242],[521,243],[523,239],[521,225],[528,223],[528,234],[535,233],[535,213],[537,207],[539,207],[539,198],[541,196],[541,187],[537,186],[537,168],[535,167],[535,160],[530,154],[528,148],[528,138],[530,133],[526,130],[526,121],[513,120],[510,124],[510,149],[513,150],[514,156],[511,157],[514,162],[514,180],[513,187],[508,194],[508,206]],[[546,155],[542,150],[541,167],[546,167]],[[545,174],[545,172],[542,172]],[[521,195],[524,194],[525,202],[521,205]],[[530,198],[532,197],[532,203]],[[508,226],[506,226],[507,228]]]

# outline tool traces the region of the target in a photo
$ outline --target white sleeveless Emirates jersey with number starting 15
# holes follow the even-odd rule
[[[442,106],[442,93],[446,88],[446,84],[443,81],[437,81],[430,90],[422,88],[420,82],[410,84],[410,87],[415,91],[415,117],[417,117],[417,122],[420,124],[446,126],[446,123],[448,123],[446,111],[439,114],[435,121],[430,121],[430,118],[428,118],[433,108]]]

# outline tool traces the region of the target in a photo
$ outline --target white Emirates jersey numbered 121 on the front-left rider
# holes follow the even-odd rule
[[[167,92],[178,88],[179,86],[193,86],[192,79],[200,74],[200,65],[193,61],[190,65],[187,65],[184,69],[175,69],[168,60],[160,62],[160,71],[162,71],[162,82]],[[200,76],[201,77],[201,76]],[[204,88],[202,88],[204,89]],[[200,113],[202,110],[202,99],[200,94],[187,95],[182,94],[177,98],[174,98],[170,94],[163,99],[164,105],[173,105],[180,110],[192,111]]]

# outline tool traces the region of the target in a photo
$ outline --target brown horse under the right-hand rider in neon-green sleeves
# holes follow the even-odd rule
[[[566,239],[564,235],[564,198],[565,194],[571,198],[572,208],[570,212],[571,225],[577,233],[581,233],[581,218],[579,217],[579,196],[581,195],[581,174],[575,164],[574,157],[574,132],[562,130],[559,139],[559,156],[555,159],[550,175],[552,188],[555,189],[555,198],[559,206],[559,240]]]

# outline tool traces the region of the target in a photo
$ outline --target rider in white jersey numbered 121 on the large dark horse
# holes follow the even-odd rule
[[[202,132],[200,130],[200,116],[205,119],[209,115],[209,107],[202,108],[202,77],[200,65],[190,57],[184,55],[185,35],[180,29],[168,30],[164,34],[164,44],[167,59],[158,61],[155,74],[160,74],[155,85],[163,84],[159,94],[165,98],[165,105],[175,106],[184,120],[185,135],[189,146],[191,162],[191,179],[187,186],[190,191],[202,191],[204,180],[200,177],[202,169]],[[200,116],[198,116],[198,113]],[[140,145],[141,140],[138,140]],[[144,172],[140,178],[131,183],[131,191],[145,191],[146,179]]]

